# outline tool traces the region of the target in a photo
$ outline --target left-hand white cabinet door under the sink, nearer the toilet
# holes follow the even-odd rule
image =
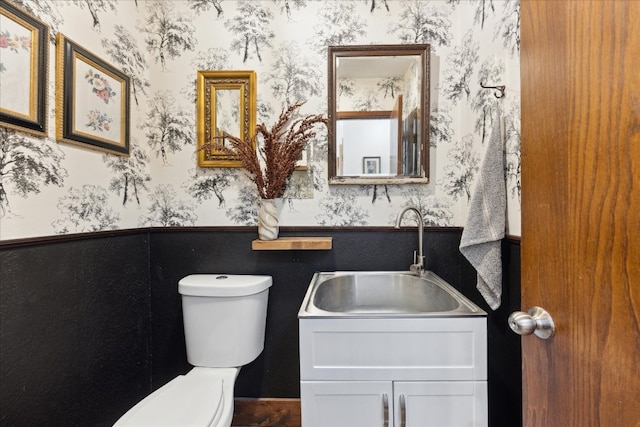
[[[301,381],[304,427],[391,427],[390,381]]]

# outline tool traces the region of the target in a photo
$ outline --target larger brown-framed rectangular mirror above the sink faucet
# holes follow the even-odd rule
[[[429,51],[329,47],[330,184],[428,182]]]

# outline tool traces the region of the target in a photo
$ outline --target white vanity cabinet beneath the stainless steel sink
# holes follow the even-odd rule
[[[487,426],[486,317],[301,318],[304,427]]]

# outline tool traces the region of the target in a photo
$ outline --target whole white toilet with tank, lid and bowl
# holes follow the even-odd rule
[[[181,279],[187,360],[195,367],[131,408],[127,427],[228,427],[242,365],[264,348],[271,276],[194,274]]]

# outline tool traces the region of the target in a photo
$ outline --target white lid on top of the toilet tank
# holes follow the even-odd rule
[[[192,274],[180,279],[178,292],[191,296],[237,297],[260,293],[272,283],[271,276]]]

